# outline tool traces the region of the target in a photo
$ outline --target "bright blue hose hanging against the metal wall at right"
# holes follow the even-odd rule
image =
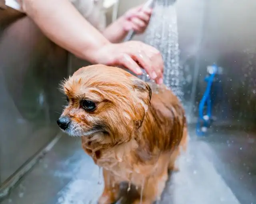
[[[212,83],[214,81],[214,77],[216,75],[217,69],[218,68],[216,66],[213,66],[213,69],[210,71],[209,75],[204,78],[204,81],[207,82],[207,87],[198,107],[199,114],[198,114],[198,122],[196,125],[196,134],[198,136],[205,135],[212,121],[212,100],[210,97],[210,91],[211,91]],[[206,107],[206,115],[204,115],[205,107]]]

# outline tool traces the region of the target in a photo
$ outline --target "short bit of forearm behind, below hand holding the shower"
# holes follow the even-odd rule
[[[112,43],[122,42],[128,34],[128,31],[123,29],[123,23],[124,19],[121,17],[110,24],[102,34]]]

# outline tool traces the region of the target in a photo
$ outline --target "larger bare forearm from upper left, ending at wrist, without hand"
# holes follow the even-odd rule
[[[23,9],[50,40],[92,63],[110,43],[68,0],[23,0]]]

